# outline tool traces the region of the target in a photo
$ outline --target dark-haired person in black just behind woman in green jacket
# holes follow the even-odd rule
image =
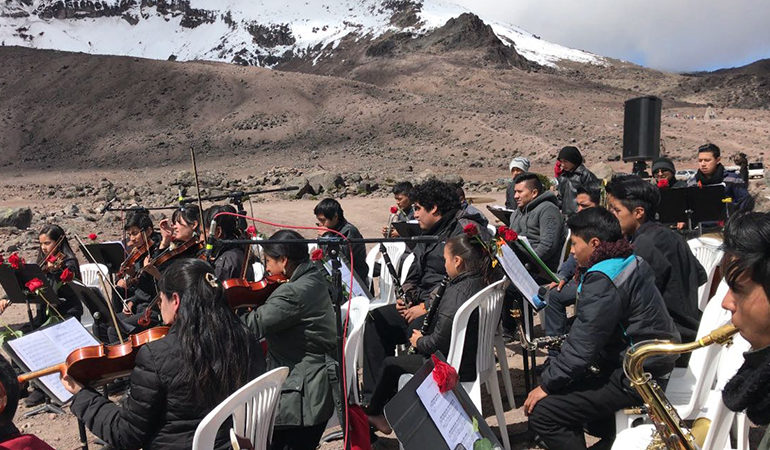
[[[222,281],[242,278],[244,275],[246,279],[253,280],[254,270],[249,264],[244,246],[219,243],[220,239],[238,239],[241,237],[238,230],[238,219],[235,216],[222,214],[214,219],[221,212],[235,213],[236,211],[231,205],[215,205],[206,210],[203,222],[206,226],[211,226],[212,221],[215,223],[214,237],[216,241],[211,253],[214,273]],[[210,230],[207,231],[211,233]],[[243,272],[244,265],[246,272]]]

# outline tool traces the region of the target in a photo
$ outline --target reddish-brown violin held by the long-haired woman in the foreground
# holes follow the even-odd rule
[[[69,375],[79,383],[101,386],[115,378],[128,375],[134,368],[139,349],[144,344],[164,337],[168,330],[169,327],[154,327],[132,334],[122,344],[78,348],[73,350],[63,363],[21,374],[17,380],[21,384],[59,372],[61,376]]]

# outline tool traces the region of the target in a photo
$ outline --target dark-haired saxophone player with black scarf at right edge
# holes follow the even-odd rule
[[[727,382],[722,400],[732,411],[746,411],[757,425],[770,423],[770,214],[747,213],[730,218],[724,231],[722,262],[730,289],[722,307],[751,344],[743,365]],[[759,449],[770,448],[765,431]]]

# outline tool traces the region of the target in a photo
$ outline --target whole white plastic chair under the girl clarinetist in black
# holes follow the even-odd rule
[[[455,314],[452,324],[452,342],[449,346],[447,362],[456,370],[460,370],[463,347],[465,347],[465,333],[468,328],[468,320],[473,311],[479,311],[478,345],[476,347],[476,379],[463,382],[463,388],[473,400],[474,405],[481,411],[481,383],[487,385],[487,391],[492,396],[492,404],[495,407],[495,416],[503,439],[503,447],[510,450],[511,443],[508,439],[508,430],[505,426],[505,410],[500,395],[500,385],[497,382],[497,366],[495,365],[494,336],[500,321],[500,311],[503,308],[503,281],[500,280],[485,287],[476,295],[468,299],[460,306]]]

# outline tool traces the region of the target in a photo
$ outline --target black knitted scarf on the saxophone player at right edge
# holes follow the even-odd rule
[[[746,352],[744,362],[722,391],[722,400],[732,411],[746,410],[752,422],[770,423],[770,347]]]

